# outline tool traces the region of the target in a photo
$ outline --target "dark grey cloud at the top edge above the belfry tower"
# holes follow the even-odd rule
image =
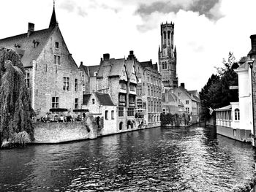
[[[183,9],[185,11],[199,12],[200,15],[206,15],[209,19],[219,19],[220,0],[192,0],[192,1],[154,1],[151,4],[140,4],[135,11],[136,14],[146,17],[154,12],[161,12],[164,14],[175,12]],[[218,15],[218,17],[216,17]]]

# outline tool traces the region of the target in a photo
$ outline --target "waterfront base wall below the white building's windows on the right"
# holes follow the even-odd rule
[[[225,137],[236,139],[241,142],[252,142],[252,138],[249,136],[249,134],[251,134],[251,130],[217,126],[217,134],[221,134]]]

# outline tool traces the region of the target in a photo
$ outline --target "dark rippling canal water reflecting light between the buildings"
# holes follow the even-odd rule
[[[0,150],[0,191],[235,191],[255,157],[214,128],[151,128]]]

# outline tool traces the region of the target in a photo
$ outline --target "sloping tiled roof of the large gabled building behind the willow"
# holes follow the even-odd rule
[[[24,67],[32,66],[32,61],[36,60],[39,54],[42,53],[53,29],[54,28],[46,28],[34,31],[29,35],[29,37],[26,33],[0,39],[0,45],[6,48],[12,48],[17,53],[23,55],[21,62]],[[37,47],[34,47],[35,42],[39,42]],[[20,46],[20,48],[16,48],[15,45],[16,47],[17,45]]]

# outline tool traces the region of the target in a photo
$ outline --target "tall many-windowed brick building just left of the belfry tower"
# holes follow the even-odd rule
[[[152,61],[138,61],[132,50],[129,52],[127,61],[135,63],[138,77],[136,102],[138,117],[143,115],[147,127],[160,126],[162,79],[157,64],[152,64]]]

